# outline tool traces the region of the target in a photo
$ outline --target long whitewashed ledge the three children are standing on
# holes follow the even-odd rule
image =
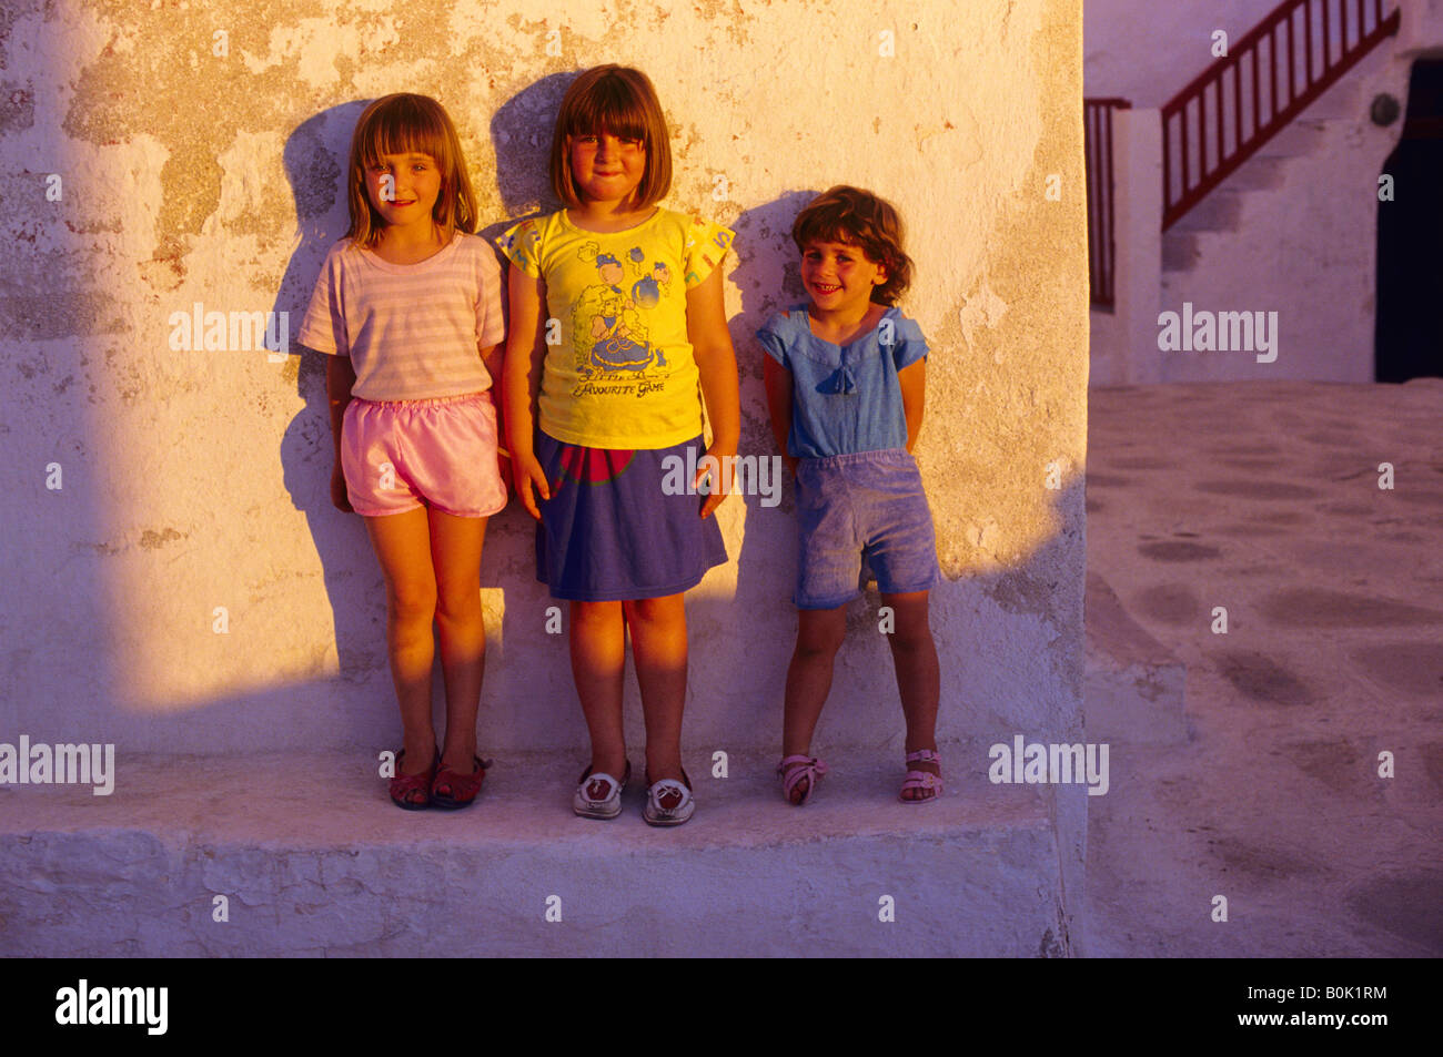
[[[398,810],[364,753],[127,754],[110,796],[0,787],[0,955],[1072,953],[1051,790],[991,784],[986,746],[941,753],[921,808],[900,757],[828,754],[801,809],[775,756],[693,761],[675,829],[642,822],[641,776],[618,819],[576,818],[580,761],[556,754],[498,760],[463,812]]]

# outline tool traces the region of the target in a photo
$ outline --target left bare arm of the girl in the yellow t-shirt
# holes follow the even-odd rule
[[[541,366],[545,361],[541,326],[545,283],[512,264],[506,278],[506,301],[511,306],[511,320],[501,369],[506,447],[511,450],[512,479],[521,503],[532,518],[540,519],[541,512],[531,486],[541,490],[543,499],[551,497],[532,443],[537,394],[541,391]]]

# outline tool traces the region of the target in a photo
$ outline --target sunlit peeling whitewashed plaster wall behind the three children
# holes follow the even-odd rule
[[[882,30],[893,58],[879,55]],[[932,619],[942,733],[1078,737],[1079,0],[12,0],[0,12],[0,740],[175,751],[394,740],[381,574],[361,521],[329,503],[322,358],[173,352],[169,319],[195,303],[289,311],[294,337],[345,228],[351,128],[385,92],[447,107],[488,234],[551,208],[556,105],[570,74],[608,61],[658,87],[674,134],[668,205],[737,231],[726,268],[743,453],[773,451],[752,333],[801,293],[786,238],[797,209],[843,180],[899,205],[918,265],[905,307],[934,349],[918,457],[947,574]],[[59,200],[46,196],[52,174]],[[1049,174],[1061,202],[1045,196]],[[56,467],[61,487],[48,487]],[[719,516],[732,561],[688,596],[687,746],[771,747],[795,620],[791,486],[778,508],[732,499]],[[519,506],[488,531],[483,746],[577,748],[566,640],[543,632],[551,601],[531,539]],[[876,606],[850,611],[821,737],[899,750]]]

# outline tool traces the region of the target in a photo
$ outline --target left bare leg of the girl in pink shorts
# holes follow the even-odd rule
[[[367,518],[367,532],[385,575],[385,645],[391,682],[401,705],[401,740],[405,760],[400,770],[420,774],[436,756],[431,728],[431,662],[436,643],[436,572],[426,508]]]

